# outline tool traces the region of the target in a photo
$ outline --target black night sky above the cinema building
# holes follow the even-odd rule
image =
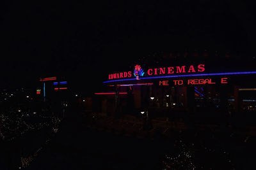
[[[5,86],[60,74],[94,80],[159,51],[255,54],[249,1],[7,1],[0,9]]]

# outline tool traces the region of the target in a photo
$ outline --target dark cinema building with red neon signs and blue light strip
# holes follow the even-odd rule
[[[119,116],[148,111],[152,118],[204,124],[255,124],[253,58],[207,52],[162,56],[106,74],[105,92],[95,93],[99,111]]]

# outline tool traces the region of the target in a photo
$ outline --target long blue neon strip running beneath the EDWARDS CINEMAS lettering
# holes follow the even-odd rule
[[[256,74],[256,71],[246,71],[246,72],[230,72],[230,73],[205,73],[205,74],[183,74],[174,76],[156,76],[156,77],[143,77],[143,79],[155,79],[155,78],[177,78],[177,77],[189,77],[189,76],[223,76],[223,75],[239,75],[239,74]],[[115,82],[115,81],[131,81],[136,80],[136,78],[122,79],[122,80],[109,80],[103,83]]]

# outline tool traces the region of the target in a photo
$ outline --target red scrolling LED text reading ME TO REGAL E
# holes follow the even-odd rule
[[[227,84],[228,78],[221,78],[221,84]],[[188,79],[188,80],[172,80],[174,85],[206,85],[215,84],[212,78]],[[159,81],[159,85],[169,85],[169,80]]]

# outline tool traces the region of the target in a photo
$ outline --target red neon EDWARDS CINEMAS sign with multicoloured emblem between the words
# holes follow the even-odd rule
[[[197,66],[172,66],[172,67],[159,67],[154,69],[148,69],[147,75],[148,76],[155,76],[155,75],[163,75],[163,74],[176,74],[176,73],[196,73],[196,72],[204,72],[205,65],[198,64]],[[143,69],[141,69],[140,65],[136,65],[134,69],[134,76],[136,80],[139,80],[139,76],[143,76],[145,73]],[[114,73],[109,74],[108,79],[119,79],[119,78],[129,78],[131,77],[131,71],[122,72],[122,73]],[[142,78],[141,78],[142,79]]]

